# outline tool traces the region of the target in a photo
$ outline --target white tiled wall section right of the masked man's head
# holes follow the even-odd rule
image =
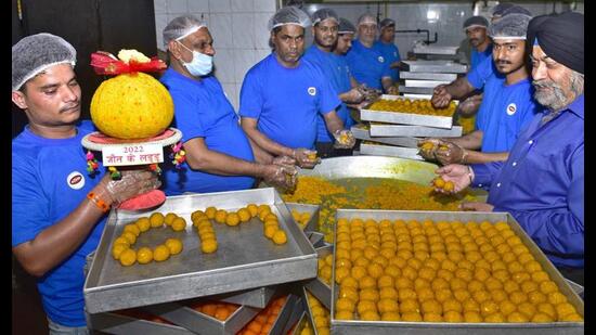
[[[157,48],[165,49],[161,34],[174,17],[192,14],[206,21],[216,48],[216,75],[237,111],[244,75],[271,52],[267,22],[276,4],[277,0],[154,0]]]

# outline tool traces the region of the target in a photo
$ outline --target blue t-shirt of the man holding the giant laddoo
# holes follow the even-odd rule
[[[101,180],[87,172],[81,139],[93,132],[90,121],[78,125],[77,136],[46,139],[25,127],[12,141],[12,246],[33,241],[43,230],[68,216]],[[87,240],[60,266],[37,279],[48,317],[65,326],[83,326],[86,257],[102,235],[105,217]],[[69,243],[64,241],[64,243]]]

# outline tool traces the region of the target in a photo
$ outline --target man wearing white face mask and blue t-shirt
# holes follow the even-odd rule
[[[294,159],[264,153],[242,130],[238,118],[212,75],[213,40],[194,16],[173,18],[164,29],[170,66],[160,81],[174,105],[173,126],[182,131],[186,164],[165,169],[168,195],[250,189],[256,178],[291,188]],[[289,178],[288,178],[289,177]]]

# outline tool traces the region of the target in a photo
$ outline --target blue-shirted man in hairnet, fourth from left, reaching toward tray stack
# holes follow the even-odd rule
[[[341,104],[337,108],[337,116],[349,129],[353,120],[347,104],[358,104],[364,100],[364,93],[354,85],[352,87],[348,64],[344,56],[336,55],[333,50],[337,44],[339,17],[329,9],[320,9],[312,14],[312,35],[314,41],[307,49],[303,60],[308,60],[321,67],[332,86],[338,93]],[[354,80],[355,83],[355,80]],[[325,125],[321,114],[318,116],[316,151],[323,158],[351,155],[351,150],[334,149],[333,134]]]

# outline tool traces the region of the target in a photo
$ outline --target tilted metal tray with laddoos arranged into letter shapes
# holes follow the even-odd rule
[[[98,313],[314,276],[316,252],[275,189],[185,194],[113,210],[83,295]]]

